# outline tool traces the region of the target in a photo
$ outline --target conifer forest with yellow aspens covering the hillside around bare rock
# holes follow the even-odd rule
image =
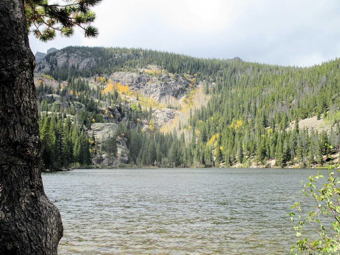
[[[67,47],[59,52],[91,58],[94,64],[60,67],[53,52],[37,65],[43,168],[93,165],[91,159],[103,154],[117,158],[119,142],[127,154],[120,166],[266,167],[274,160],[275,167],[312,167],[331,164],[338,155],[338,59],[302,68],[143,49]],[[199,86],[209,97],[200,107],[187,105],[186,120],[167,132],[154,125],[153,114],[162,105],[108,79],[114,72],[134,73],[150,65],[162,70],[154,76],[194,77],[187,78],[191,86],[178,99],[182,106]],[[313,116],[328,129],[299,125]],[[95,123],[116,123],[116,135],[96,138]]]

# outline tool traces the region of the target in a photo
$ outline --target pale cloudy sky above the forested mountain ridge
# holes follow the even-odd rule
[[[147,48],[197,57],[311,66],[340,56],[340,1],[104,0],[95,7],[100,35],[76,29],[33,53],[70,45]]]

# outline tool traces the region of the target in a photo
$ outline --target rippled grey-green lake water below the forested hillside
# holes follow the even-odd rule
[[[81,169],[43,173],[59,254],[285,254],[289,207],[313,169]]]

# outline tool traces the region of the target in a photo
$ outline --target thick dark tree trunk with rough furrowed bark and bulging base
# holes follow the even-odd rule
[[[24,0],[1,0],[0,31],[0,254],[57,254],[63,225],[41,180]]]

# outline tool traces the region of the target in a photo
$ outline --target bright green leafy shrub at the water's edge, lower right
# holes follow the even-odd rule
[[[308,177],[309,182],[304,184],[303,193],[312,199],[312,208],[307,215],[300,202],[290,208],[298,211],[298,221],[295,221],[295,213],[290,212],[290,220],[293,223],[296,236],[299,240],[291,250],[315,251],[315,252],[338,252],[340,251],[340,167],[339,165],[328,167],[329,176],[327,182],[317,183],[317,180],[325,177],[318,174]],[[307,226],[309,224],[309,226]],[[304,237],[310,229],[317,234],[317,238]]]

